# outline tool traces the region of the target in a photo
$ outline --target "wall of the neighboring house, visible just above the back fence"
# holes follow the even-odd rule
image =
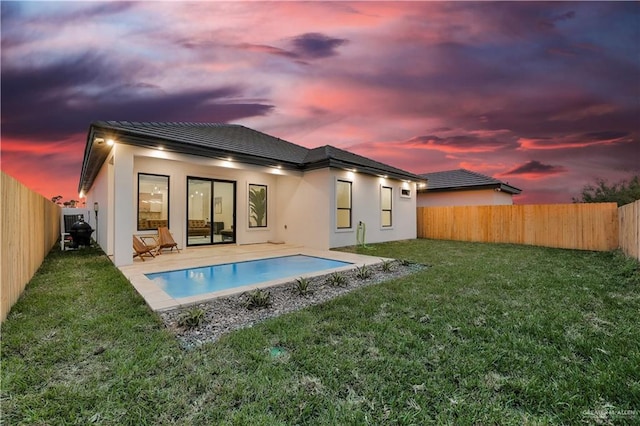
[[[511,205],[511,194],[495,189],[420,192],[418,207]]]

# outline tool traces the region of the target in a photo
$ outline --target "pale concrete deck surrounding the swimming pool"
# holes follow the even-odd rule
[[[133,284],[133,287],[144,298],[151,309],[154,311],[163,311],[182,306],[194,305],[206,300],[242,293],[256,288],[265,288],[290,282],[298,277],[266,281],[259,284],[251,284],[214,293],[175,299],[164,292],[153,281],[148,279],[145,274],[174,271],[177,269],[197,268],[201,266],[220,265],[224,263],[245,262],[248,260],[267,259],[271,257],[290,256],[295,254],[322,257],[325,259],[339,260],[353,264],[340,268],[304,274],[305,277],[325,275],[334,271],[345,271],[355,268],[356,266],[375,265],[383,260],[379,257],[331,250],[315,250],[289,244],[225,244],[207,247],[188,247],[180,249],[180,253],[175,250],[164,251],[161,255],[156,256],[155,258],[146,257],[144,262],[139,258],[136,258],[133,265],[121,266],[119,269],[131,284]]]

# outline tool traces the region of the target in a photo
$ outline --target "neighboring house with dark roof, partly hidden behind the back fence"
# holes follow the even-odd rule
[[[465,169],[421,174],[428,179],[418,189],[418,207],[511,205],[522,190],[498,179]]]

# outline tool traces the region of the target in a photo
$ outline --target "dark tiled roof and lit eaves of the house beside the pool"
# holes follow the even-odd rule
[[[78,186],[80,192],[91,187],[109,155],[110,147],[104,143],[107,139],[152,149],[161,145],[166,151],[203,157],[231,157],[234,161],[261,166],[300,171],[337,167],[402,180],[424,181],[419,175],[330,145],[309,149],[238,124],[96,121],[89,128]]]

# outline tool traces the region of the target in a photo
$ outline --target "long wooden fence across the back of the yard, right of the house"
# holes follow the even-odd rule
[[[418,238],[618,248],[616,203],[419,207]]]

